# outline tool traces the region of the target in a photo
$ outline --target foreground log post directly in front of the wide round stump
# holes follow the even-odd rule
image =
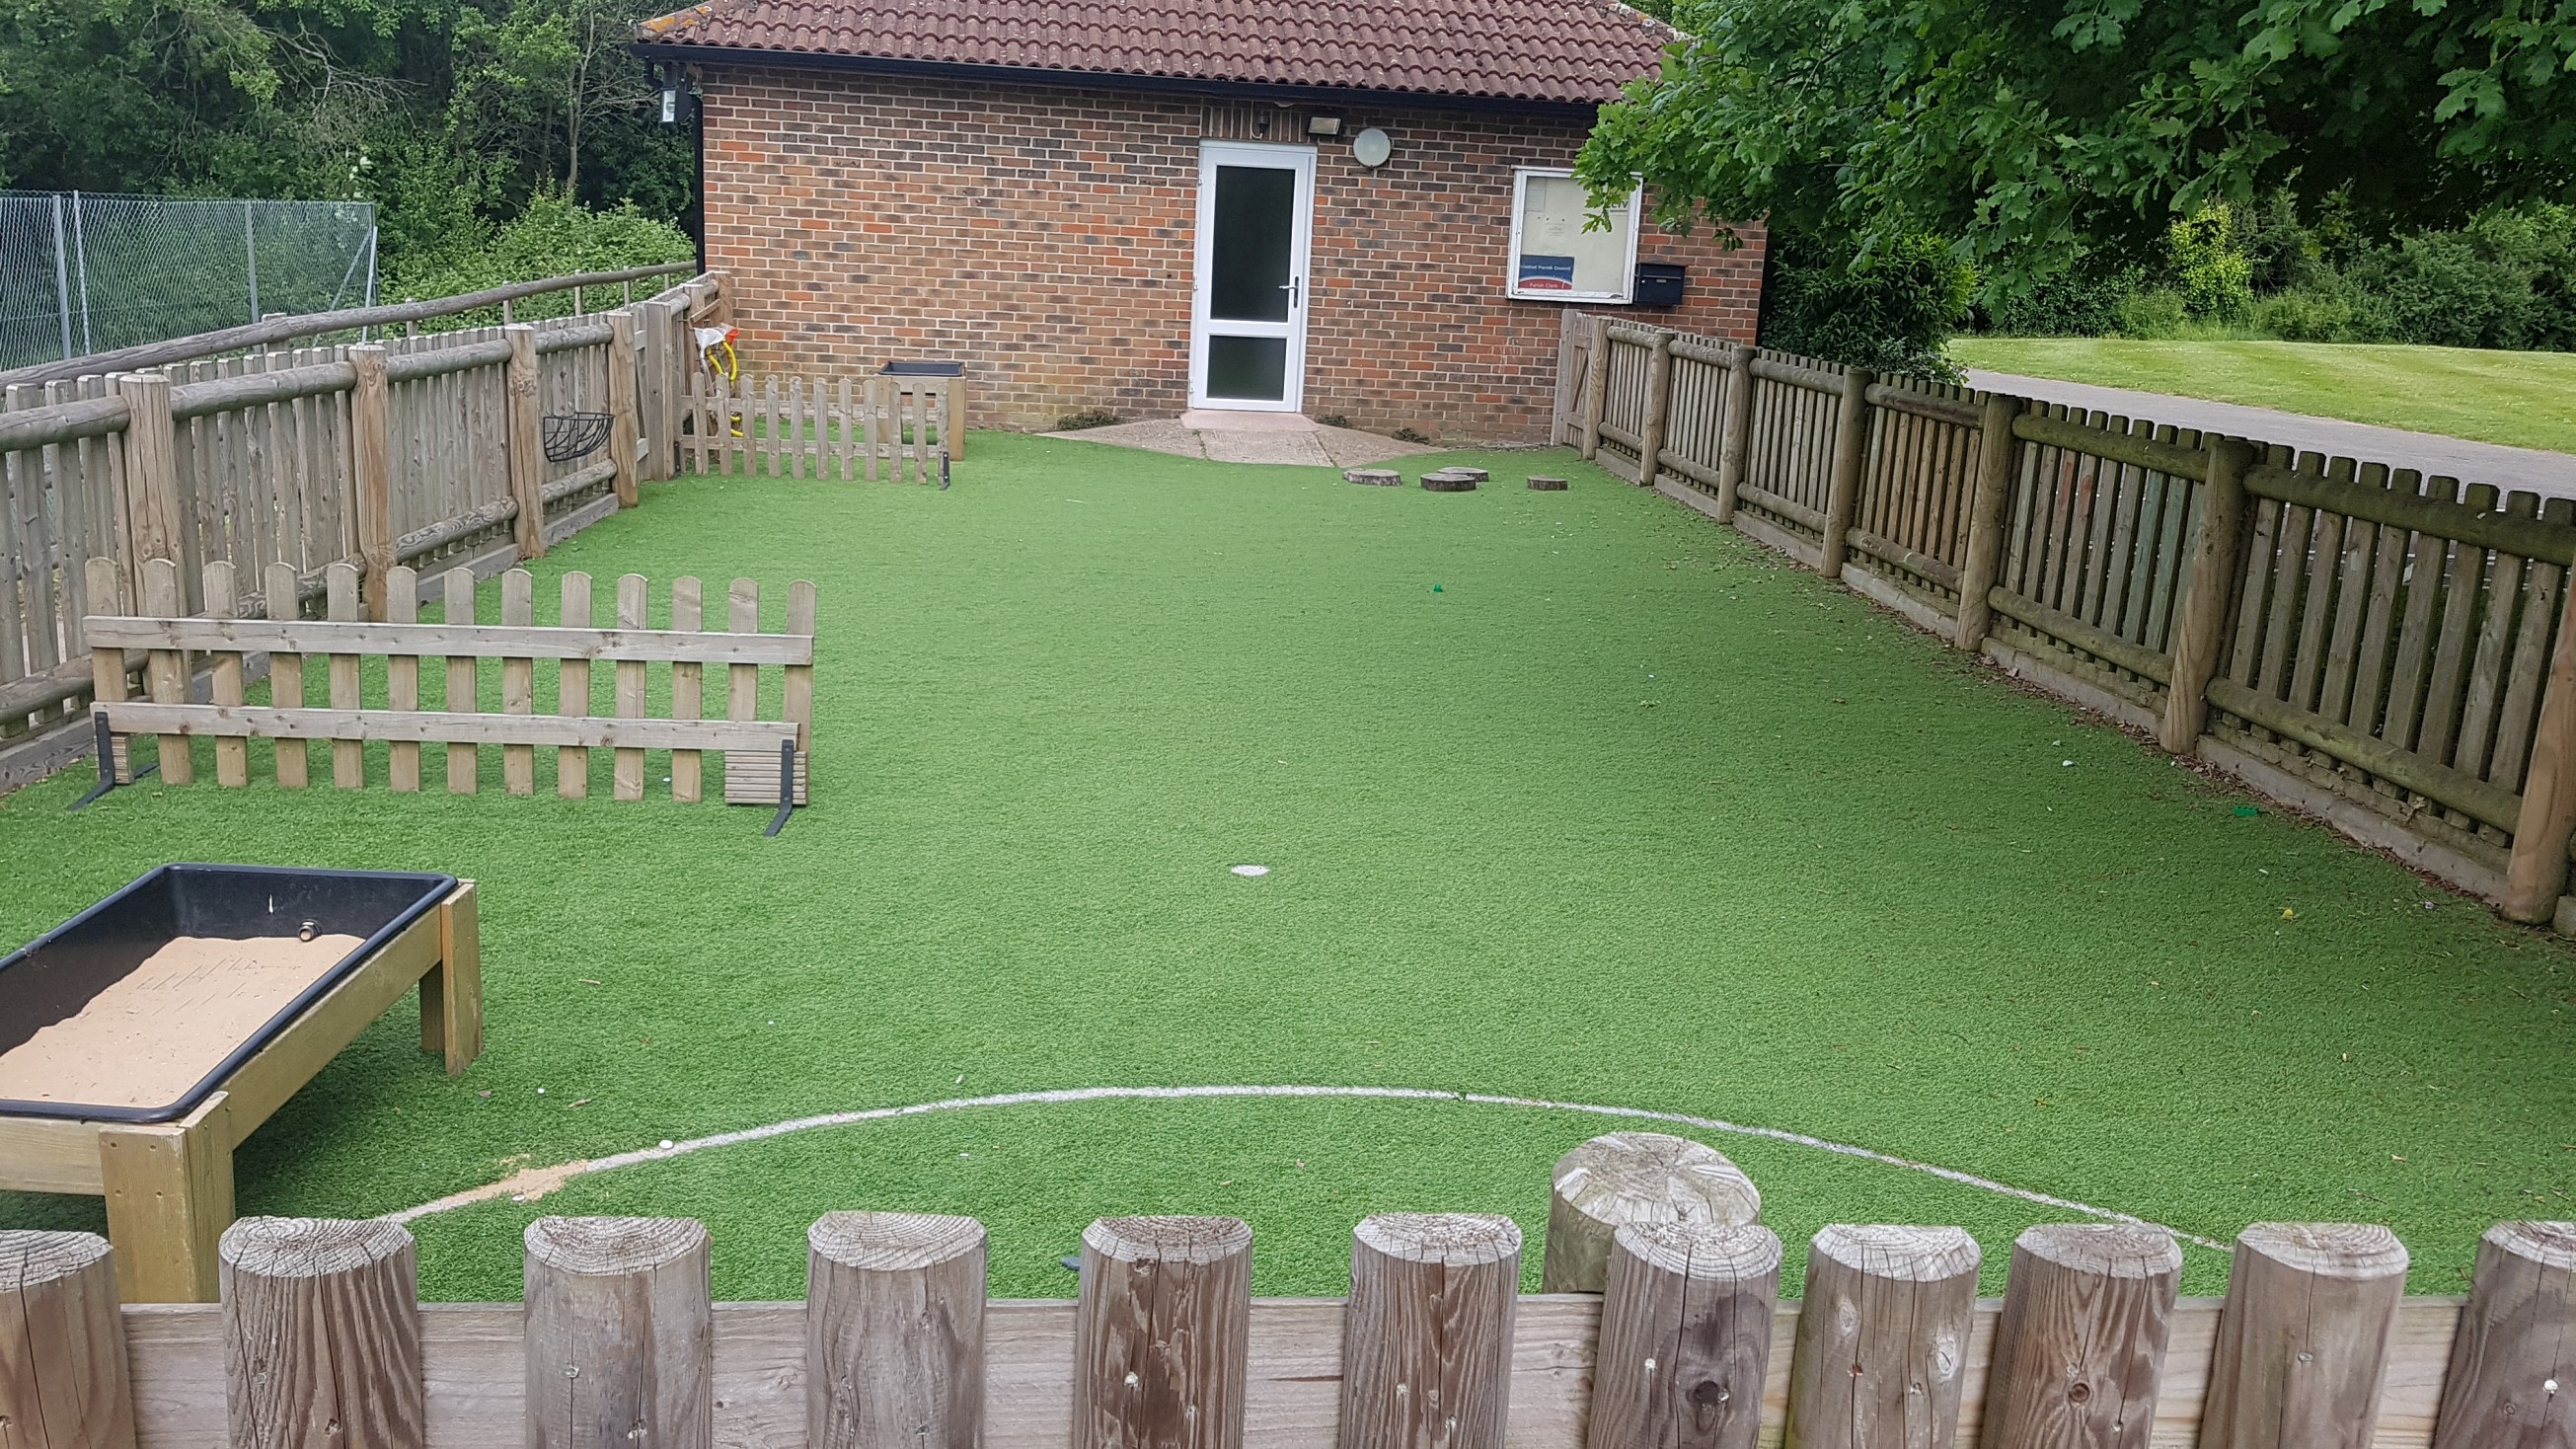
[[[1762,1431],[1780,1238],[1628,1222],[1610,1240],[1589,1449],[1752,1449]]]

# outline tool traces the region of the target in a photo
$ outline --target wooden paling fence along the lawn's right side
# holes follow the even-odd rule
[[[2576,500],[1564,327],[1556,436],[1610,472],[2576,931]]]

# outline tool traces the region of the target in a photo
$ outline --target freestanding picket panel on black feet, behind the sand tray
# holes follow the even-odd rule
[[[178,565],[149,559],[139,614],[93,614],[80,621],[93,657],[95,714],[118,737],[118,781],[134,779],[126,735],[160,737],[160,773],[191,784],[191,737],[214,740],[214,776],[222,786],[250,784],[250,740],[273,740],[273,779],[286,789],[309,781],[309,740],[330,740],[332,784],[363,789],[366,748],[386,745],[384,784],[422,789],[422,745],[446,748],[446,789],[474,794],[482,781],[482,745],[500,748],[502,789],[536,792],[536,758],[554,755],[562,797],[590,792],[590,750],[608,750],[613,797],[644,799],[644,753],[670,750],[670,794],[703,797],[703,753],[724,755],[729,804],[781,804],[781,761],[793,745],[793,802],[806,802],[806,753],[814,745],[814,585],[788,585],[786,632],[760,632],[760,585],[737,578],[724,614],[706,619],[696,578],[675,578],[667,627],[649,627],[652,585],[626,575],[616,585],[616,627],[592,624],[592,583],[585,572],[562,578],[556,624],[536,624],[528,570],[500,575],[500,624],[477,621],[479,580],[453,567],[433,580],[397,565],[386,572],[381,621],[366,616],[361,572],[335,562],[325,570],[322,619],[304,619],[296,575],[268,567],[268,588],[245,608],[229,562],[206,565],[204,614],[180,611]],[[90,598],[118,601],[113,559],[90,559]],[[443,624],[420,624],[420,603],[435,598]],[[250,614],[250,616],[245,616]],[[263,616],[265,614],[265,616]],[[147,701],[126,701],[126,676],[142,655]],[[211,673],[211,701],[191,701],[196,655]],[[270,704],[245,704],[245,660],[268,657]],[[366,699],[363,660],[386,660],[384,696]],[[422,660],[443,657],[443,699],[422,701]],[[319,668],[309,670],[307,660]],[[500,660],[500,709],[487,694],[484,660]],[[536,709],[538,660],[556,663],[554,712]],[[613,668],[613,712],[595,712],[592,665]],[[647,665],[670,665],[670,717],[649,719]],[[760,719],[760,670],[783,673],[781,717]],[[706,670],[716,668],[721,714],[708,717]],[[319,678],[314,678],[319,676]],[[440,676],[430,676],[440,678]],[[309,704],[312,686],[325,704]]]

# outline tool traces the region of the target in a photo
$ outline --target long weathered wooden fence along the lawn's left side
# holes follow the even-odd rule
[[[706,276],[592,317],[8,387],[0,753],[23,735],[85,735],[62,730],[95,683],[85,559],[116,559],[126,598],[149,559],[175,562],[175,614],[209,606],[214,562],[247,603],[278,565],[317,601],[325,567],[345,559],[381,619],[397,565],[489,575],[634,505],[639,480],[677,464],[675,374],[698,371],[685,330],[726,307],[724,278]],[[549,418],[592,420],[598,438],[549,449]],[[26,753],[28,766],[0,761],[0,786],[67,758],[49,743]]]

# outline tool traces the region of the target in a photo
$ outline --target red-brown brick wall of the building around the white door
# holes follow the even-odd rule
[[[706,248],[732,273],[744,366],[876,371],[966,358],[979,428],[1079,407],[1170,418],[1190,397],[1203,98],[827,70],[714,70]],[[1502,294],[1512,168],[1566,165],[1553,116],[1355,106],[1368,170],[1316,144],[1306,415],[1435,438],[1543,438],[1561,304]],[[1690,268],[1641,322],[1752,338],[1762,232],[1649,232]]]

